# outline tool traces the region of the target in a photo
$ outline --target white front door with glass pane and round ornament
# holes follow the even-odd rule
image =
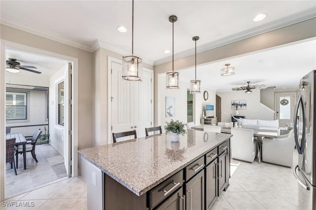
[[[294,97],[295,93],[276,94],[276,120],[280,127],[285,127],[285,123],[293,123]]]

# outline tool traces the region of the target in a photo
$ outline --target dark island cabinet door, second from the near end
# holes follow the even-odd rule
[[[186,210],[204,210],[204,170],[186,184]]]

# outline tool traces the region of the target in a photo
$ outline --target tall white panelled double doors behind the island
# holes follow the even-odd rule
[[[142,82],[122,80],[122,65],[111,63],[111,120],[112,133],[136,129],[137,137],[145,136],[145,127],[152,123],[152,75],[143,70]],[[132,137],[120,138],[119,141]]]

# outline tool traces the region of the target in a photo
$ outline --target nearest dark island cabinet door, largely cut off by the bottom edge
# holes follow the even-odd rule
[[[168,200],[161,204],[157,210],[184,210],[183,209],[183,188],[181,187]]]

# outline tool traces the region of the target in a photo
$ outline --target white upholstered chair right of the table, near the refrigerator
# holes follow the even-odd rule
[[[274,139],[263,138],[262,161],[292,167],[294,146],[293,130]]]

